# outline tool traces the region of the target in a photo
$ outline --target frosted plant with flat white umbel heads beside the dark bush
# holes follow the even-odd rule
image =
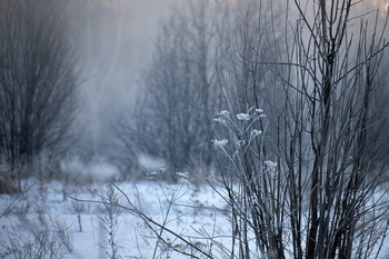
[[[265,118],[262,109],[250,108],[235,116],[219,112],[213,120],[217,139],[212,142],[216,158],[221,165],[218,182],[219,188],[223,189],[219,195],[229,203],[231,227],[235,229],[232,243],[247,248],[247,251],[240,251],[246,257],[251,255],[251,246],[256,247],[256,242],[263,240],[265,221],[268,219],[258,210],[258,205],[260,201],[263,210],[271,206],[270,200],[265,199],[271,195],[267,189],[268,180],[275,180],[278,176],[277,163],[271,162],[263,152]],[[282,185],[283,180],[278,180]]]

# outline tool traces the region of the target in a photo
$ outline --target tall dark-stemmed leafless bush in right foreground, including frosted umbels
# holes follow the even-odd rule
[[[368,258],[380,250],[388,230],[380,183],[388,167],[376,159],[388,145],[372,138],[380,119],[371,107],[382,92],[388,28],[383,20],[378,29],[377,14],[372,27],[363,21],[353,29],[355,4],[290,2],[298,20],[289,23],[296,14],[287,13],[287,51],[273,44],[269,56],[258,44],[251,46],[255,59],[240,56],[269,70],[273,81],[265,81],[269,119],[256,113],[259,103],[237,107],[232,98],[216,118],[232,256]],[[258,88],[246,94],[258,97]]]

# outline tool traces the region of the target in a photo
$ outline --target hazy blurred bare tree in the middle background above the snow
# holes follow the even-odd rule
[[[162,27],[141,101],[118,133],[130,150],[162,158],[170,170],[210,163],[210,113],[220,103],[211,13],[210,1],[192,1]]]

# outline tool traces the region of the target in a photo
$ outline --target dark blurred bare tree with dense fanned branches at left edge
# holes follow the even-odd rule
[[[66,4],[1,1],[0,146],[19,179],[34,156],[60,150],[73,120],[79,79]]]

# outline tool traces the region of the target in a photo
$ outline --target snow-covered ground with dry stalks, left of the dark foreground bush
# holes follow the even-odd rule
[[[154,181],[117,187],[114,198],[123,207],[110,215],[101,202],[108,201],[108,185],[34,183],[0,219],[0,258],[184,258],[172,248],[193,252],[178,237],[147,226],[138,212],[223,257],[220,246],[229,247],[231,229],[226,203],[210,187]],[[0,196],[1,212],[14,199]],[[158,235],[170,243],[158,241]]]

